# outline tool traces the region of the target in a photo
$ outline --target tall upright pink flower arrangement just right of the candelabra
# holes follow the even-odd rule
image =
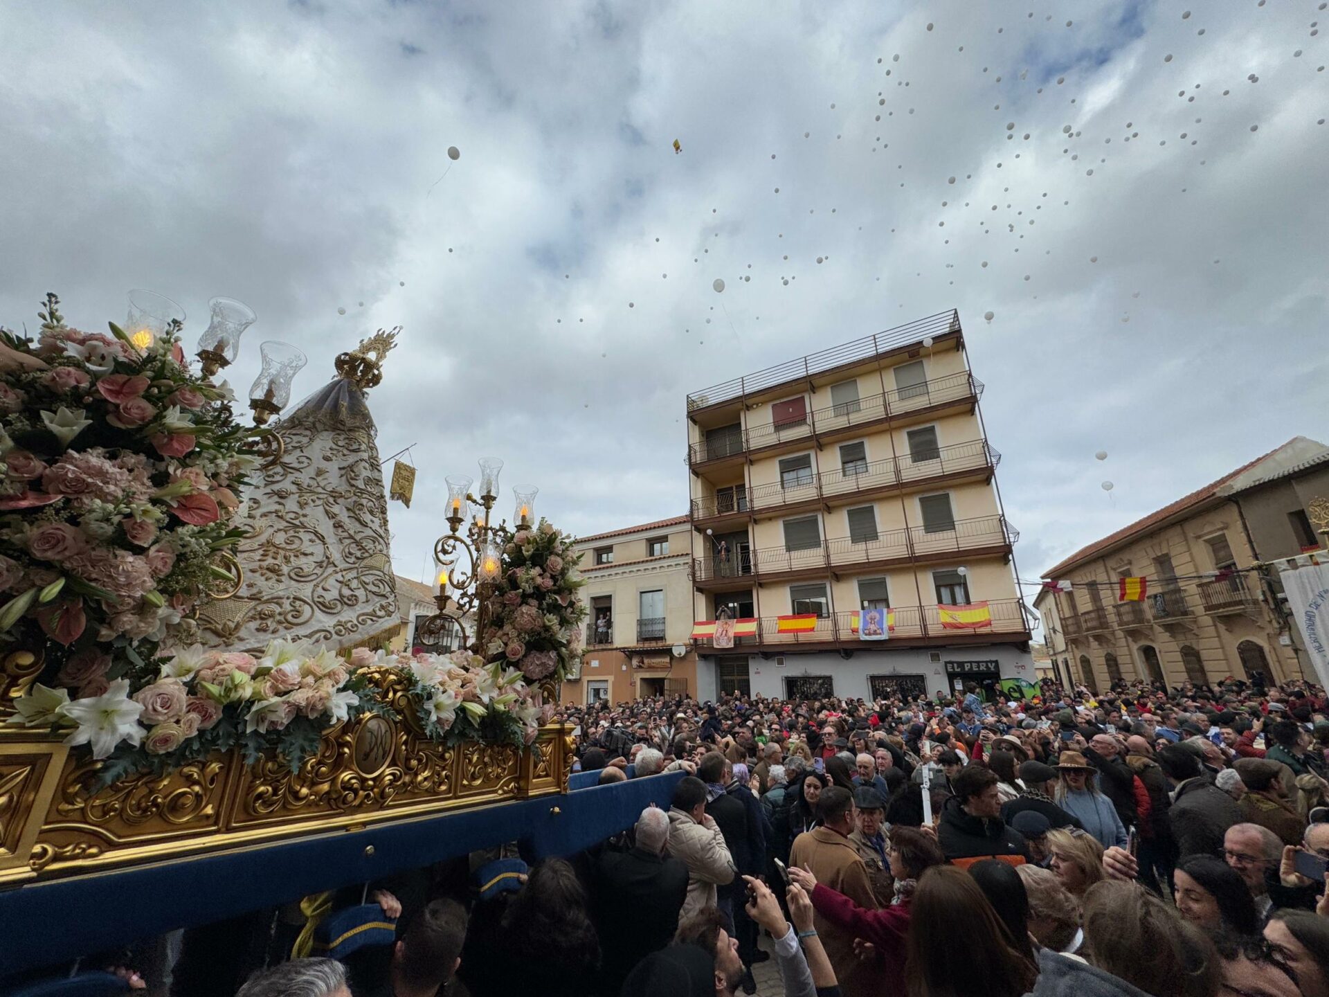
[[[581,662],[581,554],[546,520],[508,533],[505,541],[480,647],[486,661],[518,669],[528,682],[561,682]]]

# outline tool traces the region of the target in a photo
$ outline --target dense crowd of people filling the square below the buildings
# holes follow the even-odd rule
[[[186,933],[170,993],[751,994],[773,960],[785,997],[1329,997],[1317,686],[654,698],[561,719],[602,784],[683,775],[586,852],[350,891],[395,941],[342,961],[284,958],[307,935],[290,908],[221,961]],[[270,968],[239,985],[259,950]]]

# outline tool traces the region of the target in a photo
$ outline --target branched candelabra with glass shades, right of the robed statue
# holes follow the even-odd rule
[[[501,471],[502,461],[497,457],[485,457],[480,461],[478,498],[470,493],[472,479],[464,475],[445,479],[449,532],[439,537],[433,545],[435,561],[441,568],[439,594],[435,597],[439,611],[421,625],[420,635],[427,643],[436,643],[448,627],[455,626],[461,633],[462,645],[472,654],[488,657],[481,641],[489,627],[494,586],[502,577],[504,546],[512,538],[506,521],[490,522],[494,502],[498,500]],[[513,521],[517,528],[533,524],[538,491],[533,485],[513,487],[513,495],[517,497]],[[466,522],[472,506],[478,508],[462,534],[461,524]],[[468,615],[473,615],[474,619],[473,634],[466,633]]]

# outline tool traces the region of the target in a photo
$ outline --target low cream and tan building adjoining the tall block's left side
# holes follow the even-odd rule
[[[678,516],[577,541],[589,615],[581,674],[563,682],[563,702],[695,694],[688,536]]]

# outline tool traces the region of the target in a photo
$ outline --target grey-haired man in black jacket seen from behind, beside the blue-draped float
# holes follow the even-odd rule
[[[637,819],[637,847],[605,851],[595,864],[591,895],[606,993],[618,993],[623,978],[649,953],[668,945],[687,899],[688,871],[667,856],[670,818],[647,807]]]

